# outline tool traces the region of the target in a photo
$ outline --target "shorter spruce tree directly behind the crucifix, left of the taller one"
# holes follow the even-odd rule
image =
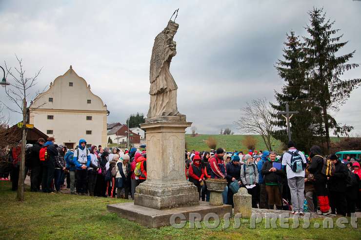
[[[309,149],[317,140],[320,125],[314,122],[312,102],[308,98],[308,85],[305,81],[305,65],[303,43],[295,32],[286,34],[283,60],[278,60],[275,66],[279,76],[285,81],[281,92],[275,92],[277,104],[271,104],[276,111],[285,111],[288,103],[290,110],[299,111],[290,120],[292,139],[299,149]],[[283,143],[288,142],[287,131],[284,129],[286,121],[281,115],[275,115],[273,124],[280,127],[274,132],[274,137]],[[317,117],[317,115],[316,115]]]

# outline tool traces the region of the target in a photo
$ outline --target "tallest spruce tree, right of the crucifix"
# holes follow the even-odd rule
[[[303,37],[305,54],[306,79],[308,97],[314,105],[314,113],[320,113],[322,126],[321,136],[324,137],[327,150],[330,149],[329,131],[340,129],[337,121],[329,114],[330,109],[338,109],[349,98],[353,89],[360,86],[361,79],[341,79],[345,71],[359,67],[359,64],[348,63],[355,51],[336,56],[347,43],[340,42],[343,35],[335,36],[340,29],[334,29],[335,21],[326,19],[323,8],[314,8],[308,12],[310,24],[305,27],[310,37]]]

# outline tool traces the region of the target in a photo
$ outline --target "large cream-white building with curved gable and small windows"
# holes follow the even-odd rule
[[[72,66],[35,98],[29,110],[30,124],[53,136],[56,144],[75,148],[83,138],[88,145],[107,145],[109,111]]]

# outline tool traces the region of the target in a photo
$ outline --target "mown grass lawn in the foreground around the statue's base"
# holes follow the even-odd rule
[[[25,192],[24,202],[16,202],[9,182],[0,182],[0,239],[347,239],[360,240],[361,231],[350,225],[340,229],[269,229],[264,223],[255,229],[241,225],[239,229],[149,229],[121,219],[106,210],[108,203],[125,200],[106,199],[68,194]],[[335,220],[336,221],[336,220]],[[313,223],[321,220],[311,220]],[[300,221],[300,223],[302,223]],[[321,224],[322,225],[322,224]],[[360,225],[360,223],[359,223]],[[202,226],[204,226],[202,224]],[[231,222],[233,226],[233,222]]]

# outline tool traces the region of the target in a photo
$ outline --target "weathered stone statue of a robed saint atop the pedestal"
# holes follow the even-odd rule
[[[178,86],[169,71],[172,57],[177,54],[173,41],[179,24],[169,20],[168,25],[154,40],[150,59],[150,104],[148,118],[156,116],[184,116],[177,108]]]

